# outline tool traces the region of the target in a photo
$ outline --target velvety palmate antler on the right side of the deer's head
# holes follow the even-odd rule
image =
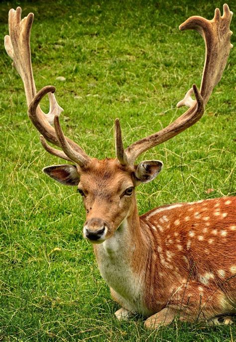
[[[186,105],[190,108],[169,126],[159,132],[134,142],[126,148],[125,151],[122,150],[122,152],[120,152],[119,149],[118,152],[117,150],[117,158],[119,160],[127,159],[129,164],[133,164],[140,154],[171,139],[195,124],[202,117],[205,110],[204,107],[207,104],[214,87],[221,80],[230,54],[230,49],[233,47],[230,43],[230,37],[233,33],[230,30],[232,15],[233,12],[230,11],[229,6],[224,4],[223,16],[221,16],[220,9],[217,8],[212,20],[207,20],[201,16],[191,16],[179,26],[180,30],[191,28],[197,30],[205,40],[206,57],[200,92],[198,91],[197,86],[193,85],[186,93],[184,99],[177,104],[177,107]],[[193,92],[196,100],[191,98]],[[120,139],[121,133],[116,133],[116,145],[121,146],[122,148],[123,144],[122,141],[120,143]],[[122,155],[122,158],[120,158],[120,155]]]

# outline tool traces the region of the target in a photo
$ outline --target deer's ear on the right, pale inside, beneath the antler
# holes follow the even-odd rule
[[[148,183],[161,172],[162,166],[160,160],[144,160],[137,165],[135,177],[141,183]]]

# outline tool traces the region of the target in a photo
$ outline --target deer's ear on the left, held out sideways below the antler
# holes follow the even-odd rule
[[[43,169],[49,177],[64,185],[78,185],[80,182],[80,175],[75,165],[53,165]]]

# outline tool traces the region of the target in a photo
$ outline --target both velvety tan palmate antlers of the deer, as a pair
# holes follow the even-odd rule
[[[124,150],[119,120],[115,122],[116,155],[122,165],[133,165],[137,157],[148,149],[167,141],[195,124],[203,115],[211,93],[220,81],[225,69],[230,49],[232,31],[230,22],[233,13],[229,6],[224,4],[224,13],[221,16],[219,8],[215,10],[212,20],[201,16],[192,16],[179,26],[180,30],[196,29],[204,38],[206,44],[206,57],[203,70],[200,92],[197,86],[188,90],[177,107],[186,105],[190,107],[164,129],[140,139]],[[40,136],[43,147],[51,154],[60,158],[74,161],[81,167],[90,161],[90,157],[74,141],[65,137],[59,123],[59,115],[63,109],[58,105],[54,96],[55,87],[46,86],[36,94],[35,83],[31,66],[30,30],[33,22],[33,13],[29,13],[21,20],[21,8],[9,11],[9,35],[5,36],[5,49],[13,59],[13,65],[20,74],[28,104],[28,115],[34,126],[42,134]],[[196,100],[191,98],[194,93]],[[44,114],[39,107],[42,97],[48,94],[50,110]],[[54,123],[55,129],[51,126]],[[47,141],[62,148],[63,152],[47,144]]]

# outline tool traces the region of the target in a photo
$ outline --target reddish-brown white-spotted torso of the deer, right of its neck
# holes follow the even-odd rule
[[[161,227],[146,231],[151,257],[145,302],[152,312],[182,308],[196,320],[236,311],[236,275],[230,270],[236,266],[235,208],[236,198],[227,197],[140,217],[149,227]]]

